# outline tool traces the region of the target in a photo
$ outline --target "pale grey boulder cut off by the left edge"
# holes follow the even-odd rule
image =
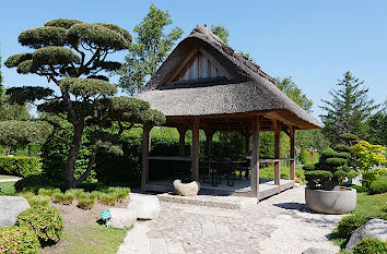
[[[13,226],[16,217],[30,208],[27,199],[21,196],[0,196],[0,228]]]

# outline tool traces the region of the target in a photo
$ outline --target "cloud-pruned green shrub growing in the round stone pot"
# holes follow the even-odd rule
[[[351,168],[347,167],[349,157],[348,153],[339,153],[332,148],[324,149],[319,162],[303,167],[307,186],[313,190],[333,190],[351,171]]]

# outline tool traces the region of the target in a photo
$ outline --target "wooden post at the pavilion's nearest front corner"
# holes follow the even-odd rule
[[[253,196],[259,201],[259,125],[260,117],[253,119],[253,154],[251,154],[251,178],[250,188]]]

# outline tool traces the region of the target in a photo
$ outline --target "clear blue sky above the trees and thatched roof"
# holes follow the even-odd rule
[[[313,99],[315,117],[321,113],[320,100],[329,98],[345,71],[365,81],[376,102],[387,99],[387,1],[3,1],[1,56],[4,61],[28,51],[17,44],[19,34],[59,17],[114,23],[132,32],[152,2],[169,11],[184,36],[197,24],[226,26],[232,47],[249,52],[272,76],[293,77]],[[124,56],[112,59],[122,61]],[[1,69],[5,87],[47,85],[43,77]]]

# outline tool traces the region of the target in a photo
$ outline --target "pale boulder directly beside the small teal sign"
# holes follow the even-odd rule
[[[112,218],[106,222],[106,225],[113,228],[130,228],[137,220],[136,210],[126,208],[109,208],[109,210]]]

